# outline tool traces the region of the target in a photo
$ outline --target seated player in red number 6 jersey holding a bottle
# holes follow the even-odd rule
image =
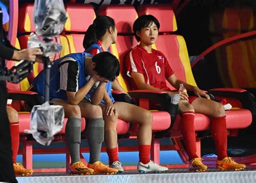
[[[179,80],[173,73],[165,55],[152,48],[158,38],[160,24],[152,15],[143,15],[133,24],[133,32],[139,45],[133,48],[126,59],[127,75],[133,89],[165,91],[170,95],[179,94],[178,104],[181,114],[181,133],[190,160],[190,171],[206,171],[207,166],[196,153],[196,135],[194,130],[194,112],[211,116],[211,132],[217,147],[217,168],[219,170],[243,170],[245,165],[237,164],[227,156],[226,116],[222,104],[211,101],[210,97],[198,87]],[[166,80],[176,89],[183,84],[196,96],[188,96],[186,91],[172,91],[166,86]]]

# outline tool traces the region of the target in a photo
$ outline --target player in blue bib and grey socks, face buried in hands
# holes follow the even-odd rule
[[[99,161],[104,140],[102,101],[106,83],[119,74],[119,62],[109,52],[92,57],[88,53],[73,53],[54,62],[51,67],[50,99],[55,105],[62,105],[68,118],[65,132],[71,156],[71,174],[114,174],[118,170]],[[33,81],[33,87],[44,96],[44,71]],[[97,87],[95,83],[99,82]],[[90,100],[88,100],[90,98]],[[81,117],[86,118],[87,140],[90,161],[87,167],[80,160]]]

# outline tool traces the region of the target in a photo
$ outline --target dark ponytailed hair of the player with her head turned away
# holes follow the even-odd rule
[[[115,26],[113,18],[109,16],[103,15],[95,18],[93,24],[88,27],[85,33],[83,41],[84,49],[86,50],[92,44],[95,44],[98,39],[103,37],[109,27],[114,29]]]

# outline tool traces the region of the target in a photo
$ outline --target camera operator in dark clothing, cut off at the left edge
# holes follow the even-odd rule
[[[2,24],[0,24],[0,30],[3,30]],[[0,40],[0,60],[42,61],[42,58],[38,57],[43,54],[41,49],[30,48],[20,51],[17,50],[6,38],[4,30],[2,34],[0,34]],[[17,182],[14,174],[14,166],[12,164],[10,123],[6,112],[7,94],[5,81],[0,81],[0,181]]]

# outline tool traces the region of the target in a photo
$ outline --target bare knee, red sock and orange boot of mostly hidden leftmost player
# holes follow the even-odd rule
[[[19,116],[18,112],[11,107],[6,106],[6,111],[10,121],[10,132],[11,132],[11,150],[12,150],[12,163],[14,164],[14,173],[16,176],[28,176],[33,173],[33,170],[26,169],[22,164],[16,163],[16,158],[19,150]]]

